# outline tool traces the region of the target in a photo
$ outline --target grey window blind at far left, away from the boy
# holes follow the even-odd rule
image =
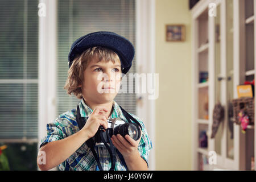
[[[38,137],[38,1],[0,1],[0,139]]]

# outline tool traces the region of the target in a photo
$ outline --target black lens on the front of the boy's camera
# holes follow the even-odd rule
[[[115,127],[114,135],[117,134],[121,134],[122,137],[129,135],[134,140],[138,140],[141,137],[141,130],[139,130],[139,126],[136,123],[125,123]]]

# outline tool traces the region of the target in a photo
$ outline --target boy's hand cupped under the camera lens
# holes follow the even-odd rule
[[[129,135],[125,135],[125,138],[123,138],[122,135],[117,134],[117,136],[113,135],[111,139],[114,146],[118,149],[119,152],[121,152],[124,158],[138,154],[138,145],[141,141],[141,137],[136,141]]]

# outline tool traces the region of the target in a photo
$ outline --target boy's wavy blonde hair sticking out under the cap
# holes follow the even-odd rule
[[[69,96],[73,93],[77,98],[83,98],[82,88],[79,85],[83,84],[84,71],[91,61],[98,63],[102,60],[104,63],[108,63],[109,61],[121,63],[117,53],[106,47],[90,47],[73,60],[68,70],[68,78],[64,86]]]

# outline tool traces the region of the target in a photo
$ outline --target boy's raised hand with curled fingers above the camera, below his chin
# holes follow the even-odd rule
[[[102,106],[96,106],[93,113],[87,119],[82,130],[86,132],[89,138],[92,138],[102,125],[105,129],[108,128],[108,117],[106,113],[108,110]]]

